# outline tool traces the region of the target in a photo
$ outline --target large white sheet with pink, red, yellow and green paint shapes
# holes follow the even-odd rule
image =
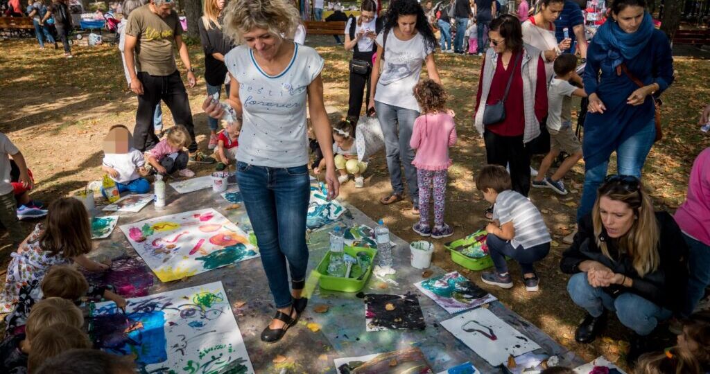
[[[120,228],[162,282],[259,255],[249,235],[214,209],[187,211]]]

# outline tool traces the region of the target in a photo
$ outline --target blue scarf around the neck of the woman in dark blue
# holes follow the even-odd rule
[[[594,35],[594,43],[606,51],[606,60],[611,60],[611,67],[616,68],[624,60],[631,60],[645,48],[654,30],[653,19],[646,12],[641,26],[635,33],[626,33],[618,23],[609,19]]]

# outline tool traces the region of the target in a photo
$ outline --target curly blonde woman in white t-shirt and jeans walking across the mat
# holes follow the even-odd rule
[[[261,333],[268,343],[283,337],[307,303],[301,297],[310,198],[306,101],[326,163],[329,199],[337,197],[339,189],[323,104],[323,59],[313,48],[281,37],[293,35],[299,24],[289,0],[234,0],[224,17],[224,34],[240,44],[224,56],[231,78],[226,102],[242,121],[237,181],[278,309]],[[211,99],[202,109],[213,118],[224,113]]]

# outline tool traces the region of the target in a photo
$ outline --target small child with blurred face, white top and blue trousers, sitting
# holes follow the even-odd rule
[[[146,160],[140,150],[131,147],[131,143],[131,132],[126,126],[111,126],[104,138],[104,161],[101,170],[116,183],[119,194],[126,191],[145,194],[151,191],[151,182],[143,178],[148,175]],[[101,193],[108,198],[104,187]]]

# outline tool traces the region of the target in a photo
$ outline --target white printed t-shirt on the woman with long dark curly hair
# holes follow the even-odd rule
[[[377,35],[377,45],[384,43],[384,31]],[[434,50],[427,47],[422,34],[414,38],[399,40],[390,30],[385,45],[385,63],[382,74],[377,81],[375,101],[383,104],[399,106],[400,108],[421,111],[417,99],[414,98],[414,86],[419,82],[424,60]]]

